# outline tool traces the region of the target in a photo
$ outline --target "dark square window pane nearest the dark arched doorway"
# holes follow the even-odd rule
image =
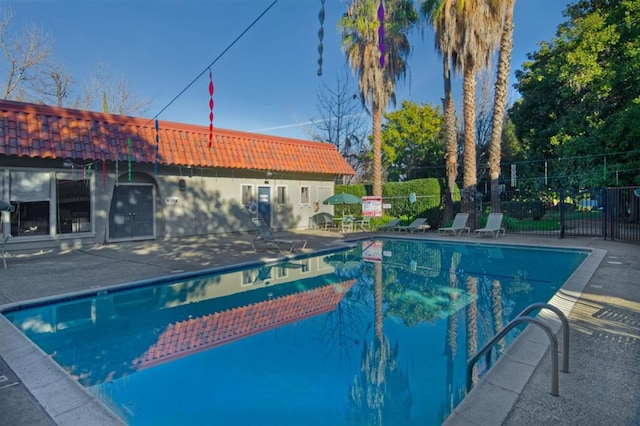
[[[56,179],[58,233],[91,231],[91,187],[83,180]]]

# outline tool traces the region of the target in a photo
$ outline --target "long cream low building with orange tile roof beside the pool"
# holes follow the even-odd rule
[[[9,249],[303,228],[353,174],[328,143],[0,101]]]

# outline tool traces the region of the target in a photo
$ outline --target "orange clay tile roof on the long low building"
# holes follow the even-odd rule
[[[164,165],[353,175],[333,144],[159,121],[158,163]],[[0,101],[0,155],[156,161],[152,119]]]

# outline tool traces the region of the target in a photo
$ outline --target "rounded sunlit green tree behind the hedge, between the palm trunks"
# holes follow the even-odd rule
[[[382,151],[387,179],[402,181],[444,177],[444,117],[440,108],[403,101],[384,115]]]

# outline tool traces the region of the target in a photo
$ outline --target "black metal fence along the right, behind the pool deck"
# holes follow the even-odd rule
[[[483,201],[480,209],[490,210]],[[507,232],[593,236],[640,242],[640,189],[596,188],[521,194],[502,193],[500,209]]]

